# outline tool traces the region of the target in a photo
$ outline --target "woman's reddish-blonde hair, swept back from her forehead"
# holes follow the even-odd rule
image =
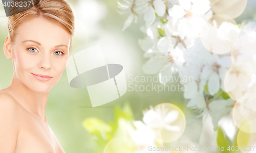
[[[40,0],[39,3],[38,1],[32,1],[32,4],[32,8],[18,14],[15,13],[17,12],[17,9],[10,8],[9,14],[14,14],[8,17],[8,32],[11,43],[14,42],[18,26],[25,20],[36,17],[46,18],[61,26],[70,35],[74,35],[74,14],[65,0]]]

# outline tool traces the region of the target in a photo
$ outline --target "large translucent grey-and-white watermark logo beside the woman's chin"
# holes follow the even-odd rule
[[[124,95],[127,84],[122,65],[106,64],[99,45],[72,55],[67,75],[73,88],[87,88],[93,107]]]

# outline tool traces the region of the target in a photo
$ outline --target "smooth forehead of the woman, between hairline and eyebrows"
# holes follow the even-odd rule
[[[15,41],[35,40],[42,45],[70,45],[71,35],[52,21],[45,18],[27,19],[17,28]]]

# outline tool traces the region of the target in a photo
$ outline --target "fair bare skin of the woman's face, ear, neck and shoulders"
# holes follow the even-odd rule
[[[69,60],[71,38],[41,17],[20,24],[13,43],[7,36],[4,53],[12,59],[14,74],[8,88],[0,91],[0,152],[65,152],[48,125],[45,109]],[[51,78],[43,81],[46,78],[40,75]]]

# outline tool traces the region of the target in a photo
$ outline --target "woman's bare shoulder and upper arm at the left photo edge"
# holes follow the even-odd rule
[[[14,152],[19,132],[18,105],[6,92],[0,91],[0,152]]]

